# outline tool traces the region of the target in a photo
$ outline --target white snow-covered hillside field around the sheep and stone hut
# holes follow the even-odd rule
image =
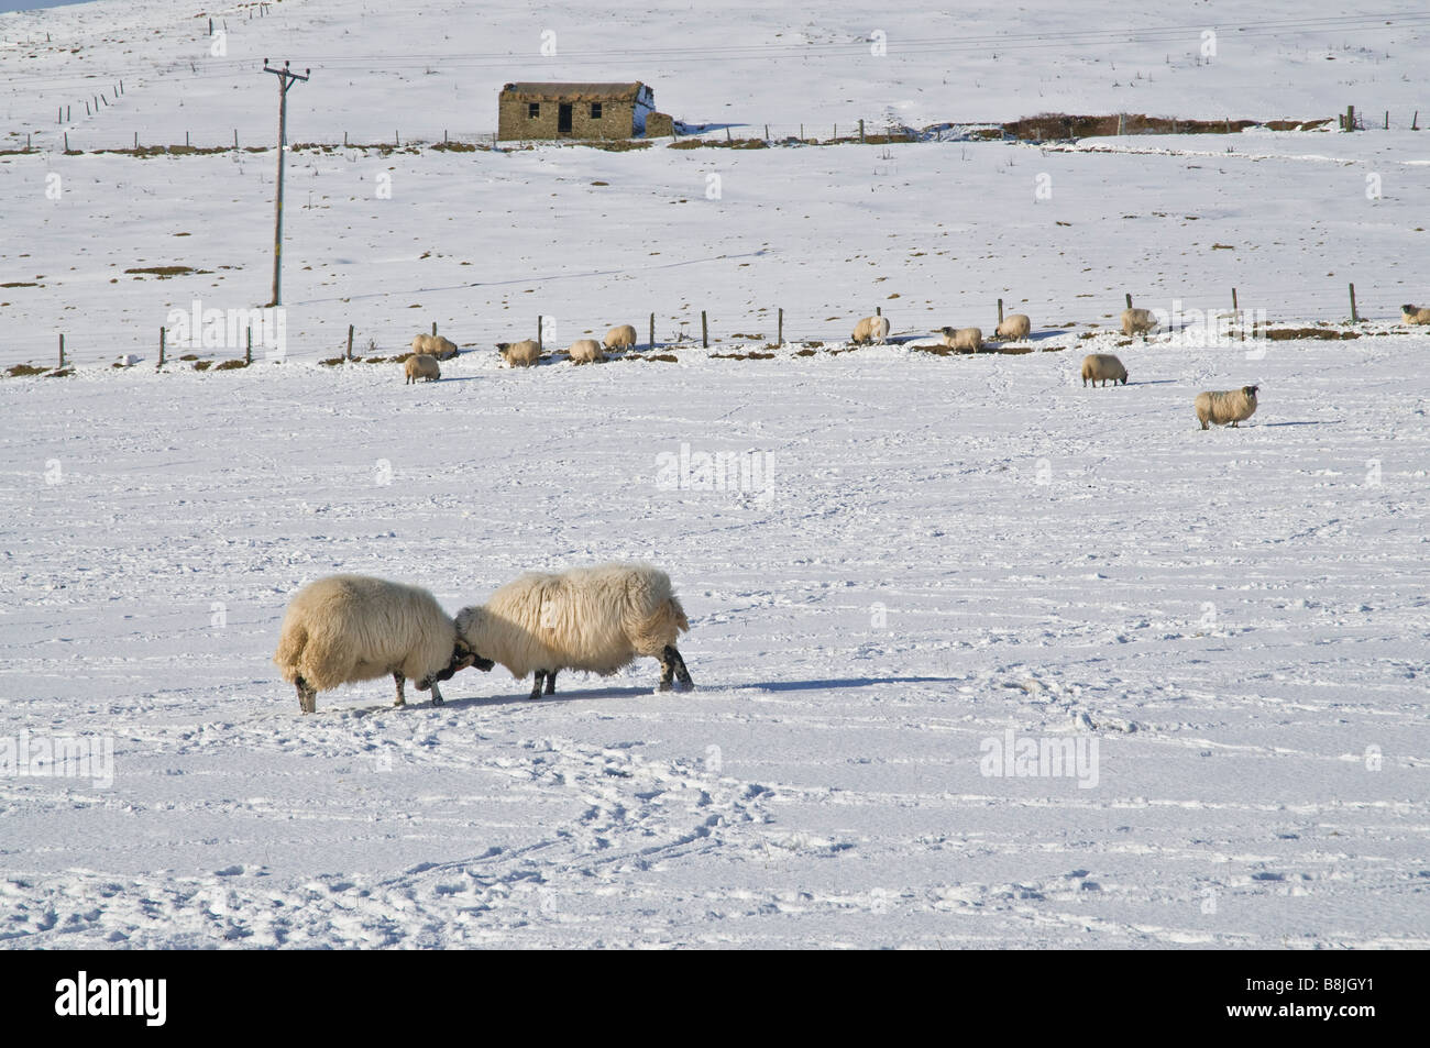
[[[59,333],[77,362],[0,377],[0,945],[1430,946],[1430,335],[1396,323],[1430,302],[1430,139],[1409,130],[1426,30],[1283,26],[1250,50],[1223,31],[1210,70],[1157,64],[1157,43],[1135,89],[1155,102],[1135,106],[1101,64],[1143,54],[1130,37],[1160,17],[1193,21],[1170,4],[1100,51],[1067,39],[1085,16],[1050,26],[1052,4],[887,26],[1025,34],[1018,64],[894,43],[884,64],[695,57],[879,24],[829,7],[696,24],[426,4],[399,34],[389,9],[286,0],[227,11],[229,61],[315,69],[293,140],[343,114],[489,129],[502,81],[591,76],[619,40],[601,79],[646,79],[685,119],[726,100],[749,124],[881,104],[911,124],[1350,102],[1407,119],[1057,149],[292,153],[286,359],[160,372],[170,310],[265,299],[273,153],[59,154],[36,63],[63,87],[143,50],[152,74],[74,133],[124,137],[127,113],[153,140],[192,107],[217,137],[262,113],[270,137],[272,77],[186,80],[174,63],[207,37],[173,4],[0,16],[46,56],[0,50],[0,113],[44,124],[49,150],[0,156],[0,365],[53,363]],[[579,70],[492,57],[546,26],[583,41]],[[423,76],[408,60],[478,51]],[[369,80],[352,63],[360,90],[329,83],[382,54]],[[954,69],[974,86],[941,96]],[[124,273],[174,265],[206,272]],[[1274,325],[1360,337],[1107,330],[1124,293],[1211,309],[1231,287]],[[1032,316],[1034,352],[919,352],[942,325],[991,333],[1000,297]],[[832,352],[875,306],[895,342]],[[766,350],[779,307],[791,343]],[[702,309],[709,350],[679,340]],[[558,346],[618,322],[644,343],[652,312],[675,362],[509,370],[492,350],[538,315]],[[349,323],[390,355],[432,322],[465,347],[439,383],[317,363]],[[714,356],[751,350],[774,356]],[[1087,352],[1120,355],[1130,383],[1084,387]],[[1198,429],[1198,390],[1248,383],[1253,419]],[[711,456],[758,470],[706,483]],[[695,692],[655,692],[645,661],[531,702],[498,668],[443,706],[409,689],[393,709],[375,681],[302,716],[269,661],[323,575],[403,579],[456,612],[522,570],[616,559],[671,573]],[[29,759],[56,745],[60,768]],[[1027,746],[1040,759],[1001,761]]]

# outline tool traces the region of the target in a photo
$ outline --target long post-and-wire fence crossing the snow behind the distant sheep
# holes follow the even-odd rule
[[[413,289],[395,290],[396,300],[410,296]],[[1410,286],[1389,285],[1363,287],[1356,292],[1356,319],[1361,323],[1384,326],[1399,323],[1400,306],[1416,302]],[[1138,307],[1160,310],[1165,315],[1161,329],[1173,332],[1205,332],[1228,327],[1233,313],[1233,289],[1224,292],[1193,292],[1178,296],[1141,295],[1134,297]],[[1124,299],[1100,295],[1097,305],[1078,302],[1067,307],[1054,303],[1017,303],[1008,299],[1004,310],[1008,315],[1027,313],[1032,320],[1031,343],[1037,346],[1077,343],[1078,336],[1090,330],[1117,330]],[[1327,286],[1324,293],[1300,290],[1294,295],[1278,295],[1274,300],[1258,300],[1251,289],[1237,289],[1236,306],[1243,320],[1240,333],[1256,337],[1267,327],[1338,326],[1351,320],[1350,289],[1347,285]],[[871,306],[869,315],[881,312],[882,306]],[[398,307],[393,307],[393,313]],[[612,322],[592,317],[571,317],[562,309],[532,312],[526,322],[515,322],[505,316],[470,317],[460,310],[435,309],[455,319],[439,320],[435,327],[462,347],[463,352],[490,353],[495,357],[496,342],[536,339],[538,332],[546,352],[562,350],[579,337],[599,339]],[[849,345],[858,316],[842,319],[828,316],[801,316],[792,310],[771,303],[762,312],[752,309],[722,313],[715,309],[685,312],[679,315],[632,310],[628,322],[636,329],[636,352],[679,352],[699,350],[702,353],[734,352],[735,347],[764,349],[766,345],[822,343],[825,347]],[[938,327],[981,327],[985,337],[992,337],[998,320],[997,300],[974,302],[962,299],[948,309],[927,313],[924,320],[909,316],[908,310],[895,307],[891,312],[891,340],[927,340]],[[1220,325],[1220,327],[1218,327]],[[539,327],[538,327],[539,326]],[[297,303],[282,310],[204,310],[194,315],[189,307],[156,315],[152,326],[120,325],[100,326],[96,323],[72,325],[41,329],[23,322],[11,322],[0,332],[0,366],[29,365],[53,369],[60,363],[60,337],[64,345],[64,363],[93,366],[133,360],[133,363],[157,365],[160,347],[166,365],[217,366],[223,362],[252,359],[295,360],[317,363],[346,357],[390,360],[412,347],[412,339],[419,333],[432,333],[433,323],[365,320],[326,307]],[[503,335],[492,335],[503,332]],[[483,335],[478,335],[483,333]],[[1208,336],[1211,337],[1211,336]],[[708,346],[706,346],[708,342]],[[1228,346],[1240,345],[1237,333],[1230,335]],[[350,346],[350,349],[349,349]],[[232,365],[230,365],[232,366]]]

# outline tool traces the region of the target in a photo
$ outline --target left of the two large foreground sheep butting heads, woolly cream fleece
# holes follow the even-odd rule
[[[317,692],[388,673],[398,682],[393,705],[406,705],[408,678],[419,691],[430,688],[439,705],[438,681],[493,665],[472,653],[432,593],[363,575],[329,575],[303,586],[283,616],[273,662],[297,688],[305,713],[317,709]]]

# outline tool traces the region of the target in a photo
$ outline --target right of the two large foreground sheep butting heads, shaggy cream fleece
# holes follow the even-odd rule
[[[495,659],[516,679],[536,673],[533,699],[543,678],[545,693],[555,692],[562,669],[609,676],[639,655],[661,661],[661,691],[669,691],[672,675],[692,688],[675,648],[689,628],[669,576],[641,563],[528,573],[456,615],[458,636],[473,658]]]

